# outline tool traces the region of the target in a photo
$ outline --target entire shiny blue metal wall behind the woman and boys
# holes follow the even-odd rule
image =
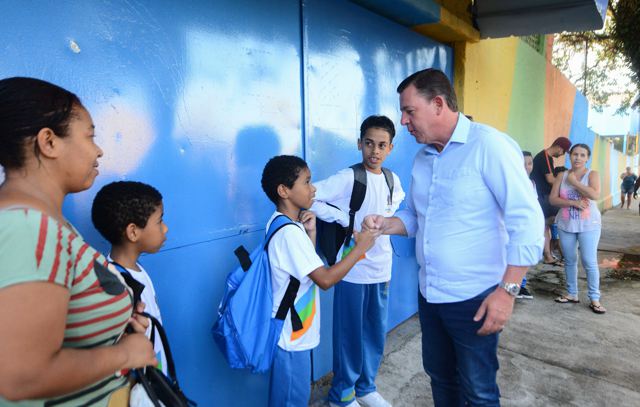
[[[320,179],[358,161],[362,119],[399,126],[399,81],[429,66],[451,75],[451,49],[342,0],[5,0],[0,13],[0,77],[50,80],[93,116],[101,175],[65,202],[85,238],[108,250],[89,218],[102,185],[140,180],[165,197],[169,240],[142,263],[186,393],[202,406],[264,405],[268,376],[231,371],[210,337],[233,249],[256,245],[273,210],[264,163],[303,155]],[[398,130],[387,164],[407,188],[417,145]],[[417,298],[413,240],[393,244],[390,328]],[[315,378],[331,368],[331,295]]]

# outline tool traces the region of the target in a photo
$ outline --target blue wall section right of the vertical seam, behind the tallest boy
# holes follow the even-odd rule
[[[385,114],[397,128],[385,165],[408,189],[418,145],[400,127],[396,87],[426,67],[451,74],[451,50],[349,2],[305,2],[303,20],[305,152],[313,178],[323,179],[362,160],[357,149],[360,123],[371,114]],[[413,239],[393,238],[389,328],[417,310],[414,244]],[[313,352],[315,379],[331,370],[327,339],[332,337],[332,295],[329,290],[321,296],[323,340]]]

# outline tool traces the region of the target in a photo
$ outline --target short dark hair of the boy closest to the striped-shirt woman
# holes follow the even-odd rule
[[[112,245],[122,242],[131,223],[144,228],[162,204],[162,194],[142,182],[118,181],[98,191],[91,207],[93,226]]]

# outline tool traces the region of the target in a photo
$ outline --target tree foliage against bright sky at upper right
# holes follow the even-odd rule
[[[601,30],[555,36],[553,63],[595,109],[613,105],[622,112],[640,103],[638,27],[640,0],[613,0]]]

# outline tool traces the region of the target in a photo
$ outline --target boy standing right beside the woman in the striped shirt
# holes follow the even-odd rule
[[[150,185],[134,181],[105,185],[96,194],[91,208],[93,225],[111,243],[108,260],[121,273],[128,273],[125,280],[129,286],[142,289],[139,301],[145,304],[145,312],[160,323],[162,317],[155,288],[138,258],[142,253],[156,253],[167,240],[169,229],[162,218],[163,211],[160,192]],[[134,282],[128,277],[132,277]],[[150,334],[151,327],[147,329],[147,337]],[[155,336],[153,348],[159,362],[157,368],[166,375],[167,359],[160,335]]]

